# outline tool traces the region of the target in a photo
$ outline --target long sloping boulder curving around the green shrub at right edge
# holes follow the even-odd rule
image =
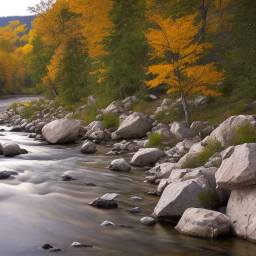
[[[233,115],[223,121],[210,135],[209,140],[218,140],[221,145],[226,148],[229,146],[230,140],[237,135],[235,129],[245,123],[255,124],[255,120],[251,115]]]

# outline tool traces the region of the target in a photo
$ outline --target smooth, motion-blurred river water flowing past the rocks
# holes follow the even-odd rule
[[[16,99],[0,99],[0,107]],[[139,219],[152,212],[158,199],[145,192],[156,187],[143,182],[142,169],[132,168],[128,173],[107,169],[114,159],[104,155],[107,147],[98,147],[94,154],[81,154],[81,143],[48,145],[28,138],[24,132],[0,132],[0,143],[8,141],[18,143],[29,153],[0,156],[0,170],[14,171],[11,178],[0,180],[0,256],[47,255],[39,248],[44,243],[62,249],[54,253],[70,256],[256,253],[255,244],[235,237],[204,239],[180,234],[166,223],[140,224]],[[131,154],[123,157],[130,159]],[[64,174],[77,180],[61,181]],[[89,187],[84,182],[96,186]],[[87,204],[111,192],[120,194],[116,198],[118,208],[98,209]],[[133,201],[131,196],[142,200]],[[135,206],[140,207],[140,213],[127,212]],[[100,226],[104,220],[116,225]],[[73,241],[94,247],[73,248]]]

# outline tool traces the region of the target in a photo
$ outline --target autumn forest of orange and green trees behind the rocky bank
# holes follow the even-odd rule
[[[0,93],[99,107],[135,94],[256,96],[256,2],[41,0],[0,28]],[[185,111],[186,113],[186,111]],[[186,115],[187,123],[190,116]]]

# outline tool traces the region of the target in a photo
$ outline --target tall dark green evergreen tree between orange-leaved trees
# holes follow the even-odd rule
[[[107,88],[114,97],[133,94],[143,84],[147,40],[142,29],[144,0],[114,0],[110,11],[113,27],[104,40]]]

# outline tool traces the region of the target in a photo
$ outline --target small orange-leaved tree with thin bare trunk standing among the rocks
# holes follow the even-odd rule
[[[195,14],[173,20],[163,19],[160,15],[152,16],[156,26],[147,33],[152,47],[151,59],[160,58],[157,64],[148,67],[147,74],[155,77],[146,84],[156,87],[161,83],[170,86],[168,93],[179,91],[185,113],[185,121],[190,125],[190,113],[186,100],[189,93],[218,95],[211,86],[222,80],[223,73],[217,71],[213,62],[200,64],[199,59],[212,46],[210,43],[199,43],[194,40],[200,25],[194,24]]]

